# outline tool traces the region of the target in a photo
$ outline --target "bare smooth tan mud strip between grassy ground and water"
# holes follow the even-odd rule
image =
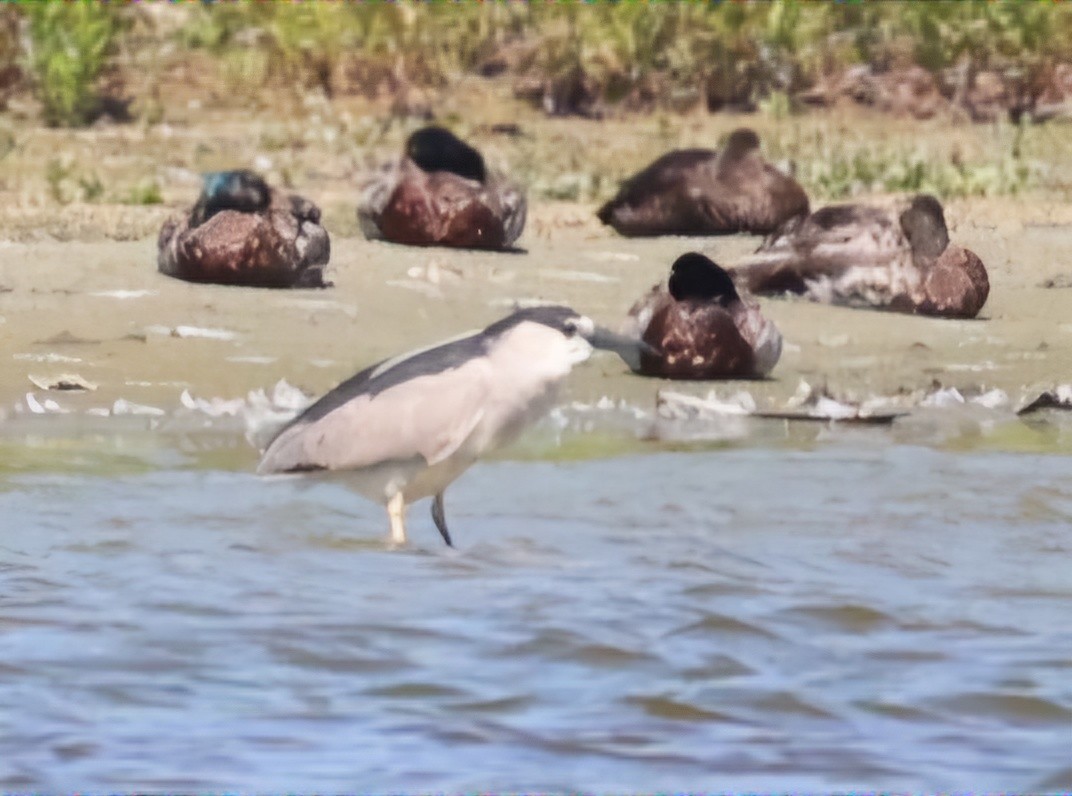
[[[235,397],[281,378],[318,393],[378,358],[480,327],[517,301],[568,303],[616,326],[680,253],[732,262],[758,239],[627,240],[591,206],[534,209],[523,254],[410,249],[336,235],[324,290],[192,285],[155,270],[155,242],[0,243],[0,406],[55,400],[75,411],[124,399],[164,409],[183,390]],[[157,212],[157,211],[148,211]],[[1072,217],[1057,202],[967,200],[948,208],[954,239],[983,258],[991,299],[973,321],[764,300],[786,340],[772,378],[675,382],[706,394],[742,387],[785,404],[800,381],[863,399],[1000,388],[1015,402],[1072,379]],[[1055,222],[1055,220],[1057,220]],[[45,391],[77,376],[95,389]],[[36,382],[36,384],[35,384]],[[654,405],[669,382],[628,374],[611,356],[580,369],[571,393]]]

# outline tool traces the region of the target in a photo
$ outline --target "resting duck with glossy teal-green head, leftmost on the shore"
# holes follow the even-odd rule
[[[253,287],[324,287],[331,251],[318,207],[247,170],[206,175],[197,202],[164,223],[157,247],[168,276]]]

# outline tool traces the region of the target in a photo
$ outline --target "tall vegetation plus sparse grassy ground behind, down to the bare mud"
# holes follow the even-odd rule
[[[238,149],[203,140],[180,157],[176,139],[161,141],[175,154],[165,149],[157,171],[121,181],[77,154],[77,139],[47,145],[40,194],[61,204],[166,204],[169,185],[189,192],[175,182],[182,168],[251,152],[282,164],[284,182],[304,168],[308,183],[303,149],[359,172],[355,151],[393,150],[433,114],[490,147],[537,198],[598,201],[660,148],[717,144],[688,133],[709,111],[749,115],[768,154],[818,198],[1068,195],[1068,169],[1052,164],[1072,160],[1070,42],[1072,3],[1049,0],[0,3],[0,110],[56,134],[116,120],[132,135],[208,129],[212,119],[218,141],[221,120],[259,120]],[[575,140],[549,120],[539,145],[496,138],[459,109],[457,97],[474,90],[495,92],[485,116],[515,97],[537,115],[600,118],[606,130]],[[899,138],[877,136],[882,124],[843,124],[846,105],[911,121],[894,125]],[[950,146],[905,132],[921,118],[988,129]],[[643,144],[611,132],[629,119],[643,122],[621,129]],[[0,120],[9,165],[38,146],[14,130]],[[594,151],[593,135],[613,146]]]

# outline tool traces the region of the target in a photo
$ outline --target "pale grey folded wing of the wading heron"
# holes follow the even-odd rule
[[[382,391],[359,392],[325,412],[307,411],[272,440],[257,470],[358,469],[417,456],[436,464],[480,422],[490,384],[487,361],[470,358]]]

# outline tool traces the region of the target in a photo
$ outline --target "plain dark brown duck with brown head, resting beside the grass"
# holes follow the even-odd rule
[[[759,136],[742,127],[720,151],[662,155],[626,180],[598,216],[630,237],[766,235],[807,211],[804,189],[763,160]]]

